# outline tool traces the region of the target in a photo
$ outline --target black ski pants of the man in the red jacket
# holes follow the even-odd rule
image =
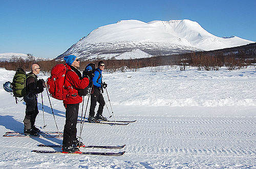
[[[70,147],[76,140],[76,124],[78,118],[79,103],[64,104],[66,107],[66,123],[63,131],[63,147]]]

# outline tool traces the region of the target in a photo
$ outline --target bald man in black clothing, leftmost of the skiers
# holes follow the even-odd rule
[[[26,102],[25,118],[24,122],[24,133],[30,135],[38,135],[40,130],[35,127],[35,119],[38,115],[37,107],[37,94],[44,91],[46,83],[43,79],[37,80],[37,74],[40,73],[40,67],[37,64],[31,66],[31,72],[26,78],[26,93],[27,95],[23,98]]]

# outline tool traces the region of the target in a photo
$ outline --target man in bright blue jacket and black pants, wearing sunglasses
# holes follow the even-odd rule
[[[94,72],[94,77],[93,77],[93,87],[92,87],[92,92],[91,92],[91,106],[90,106],[90,111],[89,111],[89,117],[88,117],[88,121],[89,122],[97,122],[99,120],[107,120],[105,117],[102,116],[102,112],[103,112],[103,107],[105,105],[105,101],[104,98],[102,96],[101,93],[101,89],[102,88],[106,88],[107,85],[106,83],[102,83],[102,71],[105,67],[105,64],[103,61],[99,61],[98,62],[98,68],[95,69]],[[96,116],[95,115],[95,107],[97,102],[99,103],[99,108],[97,111]]]

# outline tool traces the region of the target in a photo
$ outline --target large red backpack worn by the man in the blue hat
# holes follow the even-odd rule
[[[68,91],[64,87],[67,66],[58,64],[51,70],[51,76],[47,79],[47,88],[50,96],[58,100],[66,100]]]

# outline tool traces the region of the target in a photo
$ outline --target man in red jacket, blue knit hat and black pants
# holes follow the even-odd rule
[[[82,102],[78,91],[89,85],[89,79],[82,78],[81,73],[77,70],[80,67],[80,61],[75,55],[67,55],[64,60],[68,68],[64,84],[68,95],[67,99],[63,100],[66,108],[66,123],[63,131],[62,153],[79,153],[80,150],[77,147],[83,144],[76,137],[79,103]]]

